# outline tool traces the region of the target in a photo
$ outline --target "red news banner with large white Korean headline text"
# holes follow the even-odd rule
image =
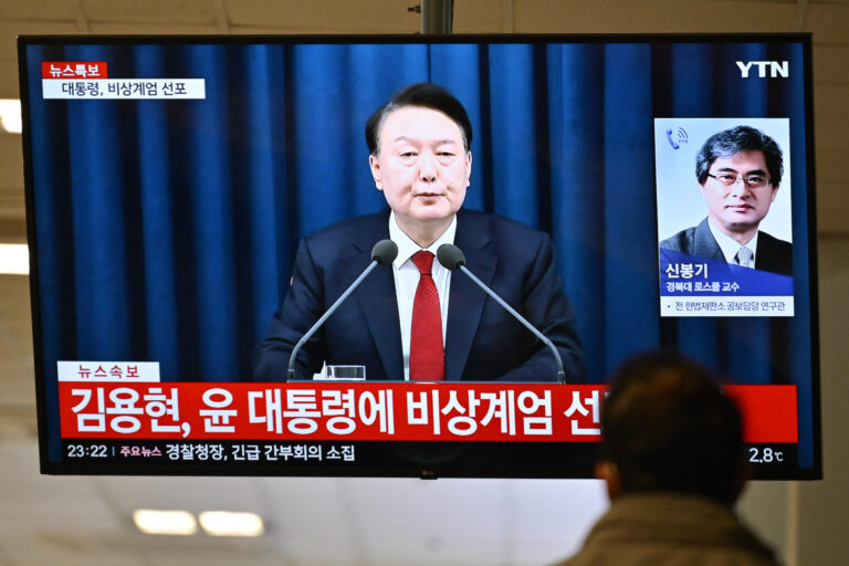
[[[606,386],[468,382],[59,384],[62,438],[600,440]],[[727,386],[747,443],[796,443],[795,386]]]

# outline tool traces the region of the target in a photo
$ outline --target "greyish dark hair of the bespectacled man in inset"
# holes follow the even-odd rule
[[[724,129],[708,138],[695,156],[695,177],[699,179],[699,185],[704,185],[708,180],[708,172],[717,157],[731,157],[741,151],[764,154],[773,187],[777,188],[780,185],[784,175],[782,148],[775,139],[751,126]]]

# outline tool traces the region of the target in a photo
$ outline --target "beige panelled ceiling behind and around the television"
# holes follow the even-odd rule
[[[17,34],[415,33],[416,0],[0,0],[0,97]],[[710,13],[711,17],[705,17]],[[846,234],[849,3],[455,0],[457,32],[814,31],[820,232]],[[25,241],[21,138],[0,133],[0,242]],[[0,566],[544,564],[606,507],[595,481],[40,475],[29,282],[0,275]],[[254,511],[252,539],[143,535],[137,507]]]

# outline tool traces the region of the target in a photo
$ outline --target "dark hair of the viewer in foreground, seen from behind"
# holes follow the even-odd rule
[[[622,493],[675,491],[733,503],[744,465],[740,411],[710,371],[677,354],[636,357],[601,412],[605,459]]]

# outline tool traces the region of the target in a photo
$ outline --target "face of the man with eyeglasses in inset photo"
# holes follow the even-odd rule
[[[757,150],[741,151],[731,157],[717,157],[708,171],[713,176],[759,176],[769,179],[764,154]],[[778,189],[768,184],[763,189],[753,190],[741,179],[725,186],[708,177],[699,189],[708,202],[708,210],[715,226],[729,235],[756,230],[761,220],[769,212],[769,205],[775,200]]]

